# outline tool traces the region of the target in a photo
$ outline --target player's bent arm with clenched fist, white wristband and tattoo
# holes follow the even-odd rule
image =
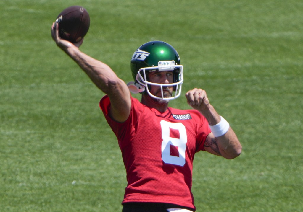
[[[205,90],[195,88],[188,91],[185,96],[188,104],[205,116],[210,126],[215,126],[219,122],[221,123],[222,129],[218,130],[219,132],[214,132],[217,136],[212,132],[207,136],[204,144],[205,150],[211,154],[220,155],[227,159],[233,159],[239,156],[242,147],[237,135],[225,119],[219,116],[215,108],[209,103]],[[222,123],[224,124],[223,126]],[[224,134],[221,135],[222,133]]]

